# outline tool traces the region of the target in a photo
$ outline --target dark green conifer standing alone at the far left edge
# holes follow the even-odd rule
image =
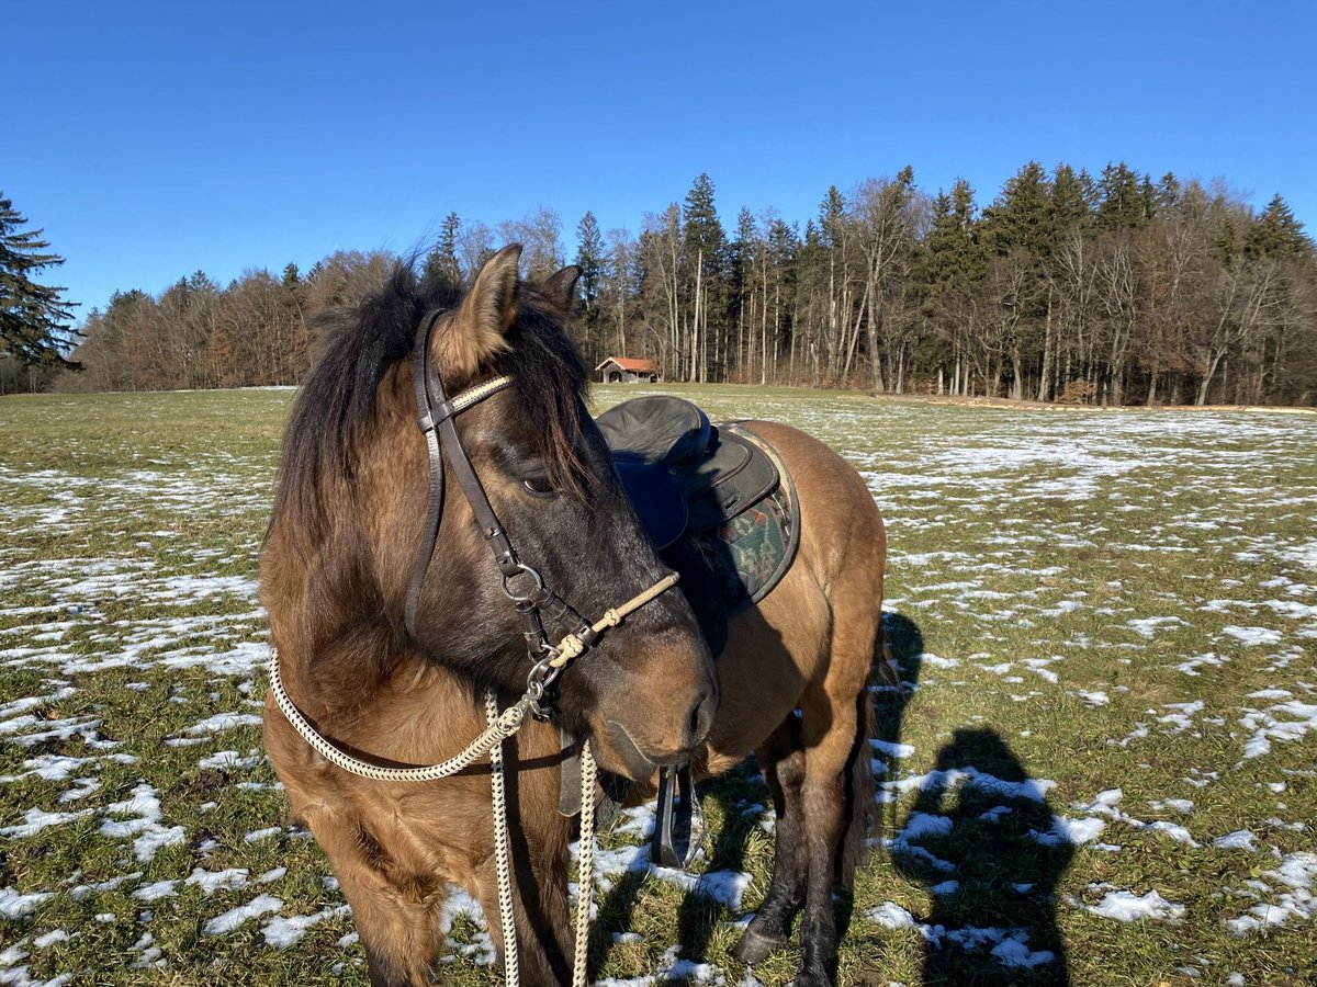
[[[65,258],[43,253],[50,243],[40,229],[24,230],[26,222],[0,193],[0,355],[22,367],[80,368],[65,357],[75,336],[68,326],[75,303],[61,297],[65,288],[32,279]]]

